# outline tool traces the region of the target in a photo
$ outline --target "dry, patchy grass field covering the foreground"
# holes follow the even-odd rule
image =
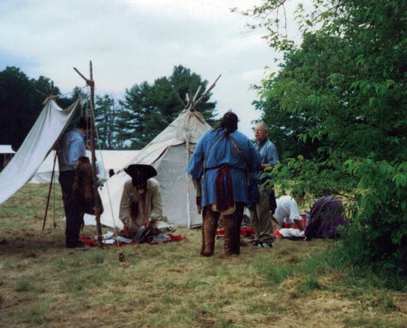
[[[200,257],[183,242],[65,249],[60,188],[42,230],[47,185],[0,205],[0,326],[407,327],[407,293],[329,264],[331,241],[279,240],[240,256]],[[104,228],[104,232],[107,231]],[[95,235],[94,227],[82,234]]]

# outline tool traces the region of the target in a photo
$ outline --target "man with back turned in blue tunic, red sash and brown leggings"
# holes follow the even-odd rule
[[[248,202],[247,180],[260,169],[260,155],[238,129],[238,116],[224,114],[220,126],[207,131],[198,141],[188,173],[201,187],[202,248],[211,256],[220,214],[225,228],[225,255],[240,253],[240,225]]]

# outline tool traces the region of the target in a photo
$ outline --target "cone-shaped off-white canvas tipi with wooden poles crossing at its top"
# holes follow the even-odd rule
[[[158,172],[155,178],[161,188],[163,214],[169,223],[180,227],[193,228],[202,224],[192,180],[186,172],[195,144],[203,133],[211,129],[205,118],[194,108],[212,90],[216,81],[198,100],[195,98],[199,90],[195,97],[190,97],[178,117],[127,164],[148,164],[155,167]],[[123,227],[119,220],[119,207],[127,180],[130,180],[130,176],[121,170],[110,177],[99,191],[104,207],[102,224]],[[95,224],[90,215],[86,215],[84,219],[85,224]]]

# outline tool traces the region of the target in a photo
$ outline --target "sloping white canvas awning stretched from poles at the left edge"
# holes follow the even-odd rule
[[[78,101],[67,109],[61,109],[52,99],[46,101],[17,153],[0,173],[0,204],[32,178],[55,141],[64,132]]]

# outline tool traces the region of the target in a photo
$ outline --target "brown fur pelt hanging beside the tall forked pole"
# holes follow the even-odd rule
[[[93,171],[88,157],[81,156],[75,166],[75,179],[73,182],[73,193],[76,202],[81,206],[84,213],[95,215],[96,206],[93,193]],[[96,191],[97,192],[97,191]],[[97,192],[100,213],[103,213],[103,205]]]

